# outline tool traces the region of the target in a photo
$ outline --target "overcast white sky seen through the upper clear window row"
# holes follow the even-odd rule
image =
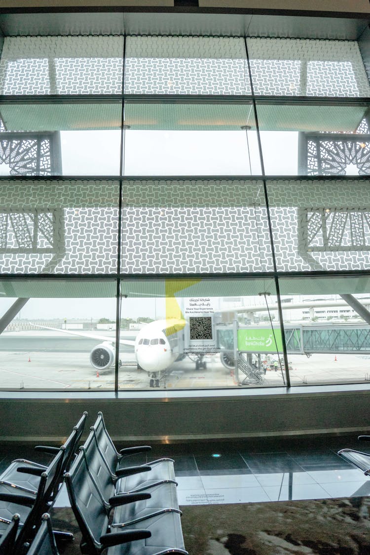
[[[254,131],[125,132],[125,175],[260,175]],[[296,175],[298,133],[262,132],[265,172]],[[119,131],[62,131],[64,175],[118,175]],[[249,150],[248,150],[249,148]],[[78,153],[78,155],[76,155]]]

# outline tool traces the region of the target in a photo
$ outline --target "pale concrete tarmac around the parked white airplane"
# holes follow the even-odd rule
[[[97,332],[95,331],[95,334]],[[137,333],[137,332],[136,332]],[[94,332],[92,332],[94,334]],[[112,336],[112,332],[98,332]],[[135,333],[124,332],[125,339]],[[59,332],[3,332],[0,337],[0,388],[3,390],[113,390],[114,366],[97,371],[89,362],[90,350],[99,343],[94,339],[65,336]],[[149,377],[138,369],[134,350],[121,346],[119,388],[151,389]],[[186,357],[169,367],[160,388],[229,388],[283,386],[283,372],[268,370],[260,380],[246,379],[239,371],[226,369],[220,356],[205,357],[206,369],[195,370],[195,362]],[[370,382],[370,354],[288,355],[291,385],[351,384]],[[286,381],[286,380],[285,380]]]

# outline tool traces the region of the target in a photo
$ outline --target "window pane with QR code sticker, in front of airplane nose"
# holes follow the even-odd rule
[[[136,279],[121,292],[121,335],[136,345],[121,345],[120,388],[286,383],[273,280]]]

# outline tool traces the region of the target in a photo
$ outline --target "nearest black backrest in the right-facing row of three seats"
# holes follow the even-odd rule
[[[89,474],[83,450],[64,475],[70,506],[82,533],[81,550],[92,555],[101,551],[100,536],[108,528],[108,512],[99,488]]]

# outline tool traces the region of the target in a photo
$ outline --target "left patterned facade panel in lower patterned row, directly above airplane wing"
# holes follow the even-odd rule
[[[115,273],[118,198],[116,182],[1,181],[0,271]]]

